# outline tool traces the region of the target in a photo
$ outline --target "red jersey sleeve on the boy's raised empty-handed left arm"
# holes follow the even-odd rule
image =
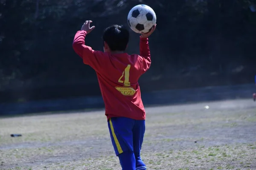
[[[90,65],[95,71],[99,71],[104,64],[104,53],[102,51],[94,51],[91,47],[84,45],[86,31],[77,31],[73,40],[73,49],[82,59],[84,64]]]

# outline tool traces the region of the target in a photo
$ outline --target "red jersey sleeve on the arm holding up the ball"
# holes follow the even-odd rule
[[[148,38],[140,37],[140,56],[143,59],[143,73],[145,73],[151,65]]]

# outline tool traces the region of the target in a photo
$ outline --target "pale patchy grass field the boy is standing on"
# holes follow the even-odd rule
[[[256,170],[252,100],[146,111],[142,158],[148,170]],[[11,133],[23,136],[12,138]],[[91,111],[0,119],[0,170],[121,168],[104,111]]]

